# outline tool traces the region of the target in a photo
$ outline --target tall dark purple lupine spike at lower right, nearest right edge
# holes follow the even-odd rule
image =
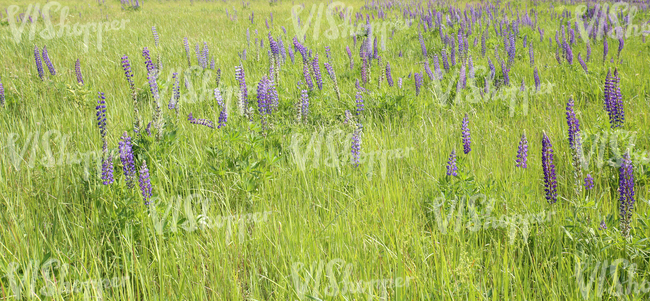
[[[623,236],[627,237],[630,234],[630,222],[634,211],[634,167],[629,151],[623,155],[618,183],[621,231]]]

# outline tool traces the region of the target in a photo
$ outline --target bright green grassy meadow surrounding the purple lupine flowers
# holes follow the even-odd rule
[[[34,39],[29,37],[31,23],[27,23],[16,42],[4,9],[18,5],[20,12],[25,12],[29,4],[36,3],[0,0],[0,80],[6,95],[5,106],[0,108],[2,299],[307,300],[305,295],[310,295],[323,300],[575,300],[585,297],[576,278],[580,270],[577,264],[587,269],[582,278],[588,280],[591,271],[598,269],[595,262],[619,258],[636,264],[636,270],[630,273],[635,281],[650,279],[650,43],[645,43],[641,36],[628,37],[619,58],[617,40],[609,39],[609,54],[603,62],[602,41],[592,40],[588,73],[577,59],[573,65],[566,60],[558,64],[555,41],[549,44],[548,38],[554,37],[560,24],[574,19],[561,20],[551,15],[560,15],[565,9],[573,14],[576,5],[500,4],[510,20],[508,5],[522,15],[527,9],[538,11],[538,25],[545,29],[545,35],[540,42],[537,28],[521,26],[510,72],[511,87],[516,88],[501,87],[499,91],[506,97],[481,103],[468,101],[479,97],[471,89],[463,90],[455,101],[442,95],[448,84],[452,96],[455,95],[459,65],[446,72],[442,90],[437,81],[427,77],[418,41],[419,17],[412,26],[395,30],[394,35],[388,31],[386,47],[379,51],[384,65],[372,61],[368,92],[363,94],[361,147],[366,153],[383,154],[391,150],[401,155],[386,159],[384,166],[381,158],[376,158],[372,165],[366,159],[355,168],[348,155],[354,126],[344,124],[344,119],[346,110],[354,112],[356,108],[361,39],[353,47],[349,35],[328,38],[325,31],[330,26],[325,12],[319,37],[314,36],[317,26],[309,25],[303,43],[314,55],[318,54],[324,82],[322,90],[315,88],[309,92],[308,121],[295,120],[294,104],[299,101],[301,90],[296,83],[304,82],[302,59],[296,52],[295,63],[287,56],[282,65],[277,86],[279,110],[270,117],[270,129],[262,131],[257,115],[251,122],[237,111],[235,66],[242,63],[249,103],[256,108],[257,84],[269,72],[268,33],[274,38],[281,36],[285,48],[293,47],[296,28],[291,9],[298,2],[251,1],[243,5],[146,1],[140,9],[123,10],[118,1],[112,0],[105,4],[59,1],[70,12],[66,24],[107,20],[124,23],[123,29],[103,33],[101,48],[97,33],[92,32],[86,45],[83,36],[77,35],[44,39],[38,34],[42,21],[37,21],[40,27]],[[316,11],[320,4],[325,8],[328,5],[305,2],[299,14],[302,22],[306,22],[312,4]],[[364,2],[344,4],[353,8],[354,13],[377,16],[377,10],[365,7]],[[405,5],[401,4],[402,8]],[[415,9],[415,4],[411,5]],[[434,2],[419,7],[427,10],[429,5],[431,9],[443,9],[445,14],[449,12],[447,6]],[[465,4],[453,5],[466,9]],[[399,6],[384,12],[386,20],[403,20]],[[59,13],[53,16],[53,23],[57,24]],[[343,22],[338,16],[334,19],[337,24]],[[643,24],[649,19],[647,11],[640,10],[633,23]],[[475,66],[482,66],[483,70],[488,68],[490,58],[499,77],[501,68],[494,47],[506,58],[503,38],[495,36],[490,25],[488,50],[482,56],[485,20],[483,30],[475,29],[468,38],[470,53]],[[155,46],[152,26],[159,34],[159,46]],[[458,26],[453,30],[457,32]],[[529,63],[528,48],[522,47],[524,35],[533,41],[533,66]],[[194,66],[192,74],[187,75],[185,37]],[[423,32],[423,38],[429,57],[434,53],[440,55],[443,43],[438,30]],[[256,39],[264,40],[263,48],[258,49]],[[200,43],[203,48],[204,42],[214,57],[215,70],[196,67],[194,47]],[[45,79],[41,80],[34,64],[34,47],[42,49],[44,45],[57,75],[51,76],[46,69]],[[331,47],[340,100],[322,67],[327,61],[326,46]],[[352,49],[352,70],[346,46]],[[157,197],[149,205],[144,204],[137,184],[133,189],[127,188],[117,158],[112,185],[102,185],[101,169],[97,169],[102,148],[95,116],[98,92],[106,95],[109,148],[117,154],[118,141],[125,131],[135,137],[131,91],[121,66],[124,55],[131,62],[143,121],[151,121],[154,101],[149,92],[143,47],[151,50],[154,62],[160,57],[163,64],[158,84],[165,136],[161,141],[147,135],[140,140],[134,138],[136,163],[141,166],[146,160],[153,195]],[[582,53],[584,58],[586,44],[582,39],[577,38],[572,47],[576,57]],[[246,60],[239,55],[244,49]],[[81,63],[83,86],[76,81],[77,59]],[[377,82],[379,74],[385,72],[386,62],[392,67],[393,87],[385,80],[381,86]],[[433,69],[432,58],[430,62]],[[539,70],[543,93],[534,92],[534,66]],[[212,94],[217,88],[217,68],[221,70],[219,88],[227,99],[228,122],[220,129],[191,124],[187,120],[189,113],[196,118],[218,120],[219,108]],[[610,129],[603,109],[603,83],[607,71],[614,68],[620,74],[625,105],[625,123],[616,130]],[[182,75],[182,95],[191,94],[184,84],[187,76],[193,89],[207,96],[200,101],[181,102],[177,114],[167,109],[167,102],[172,73],[178,70]],[[417,96],[414,77],[410,75],[415,72],[424,76],[422,91]],[[477,73],[480,87],[484,76],[485,72]],[[204,78],[208,84],[201,87]],[[403,81],[402,88],[397,86],[398,78]],[[527,105],[524,93],[505,92],[519,91],[522,79]],[[574,192],[567,142],[565,108],[569,97],[575,100],[584,148],[587,153],[595,150],[588,170],[583,171],[583,176],[589,173],[594,177],[595,187],[582,189],[579,194]],[[511,106],[513,98],[515,105]],[[469,154],[462,153],[461,121],[465,114],[472,138]],[[48,131],[55,132],[44,137]],[[529,157],[528,168],[521,169],[515,167],[515,159],[524,132]],[[543,132],[553,143],[558,178],[559,198],[552,205],[544,198]],[[314,133],[316,137],[322,133],[320,157],[308,155],[306,166],[301,169],[296,157],[309,151],[308,142]],[[302,141],[292,147],[298,134]],[[633,145],[637,201],[631,237],[623,238],[618,230],[617,159],[629,145]],[[23,149],[26,150],[22,152]],[[395,151],[398,149],[399,152]],[[599,149],[602,165],[598,163]],[[338,166],[326,162],[332,158],[330,150],[341,154]],[[458,154],[458,177],[446,175],[452,150]],[[48,152],[53,155],[48,156]],[[75,163],[80,154],[86,154],[90,163]],[[48,160],[52,157],[53,162]],[[316,160],[318,164],[314,163]],[[197,194],[203,202],[190,203],[192,210],[184,207],[188,196]],[[462,200],[465,206],[460,217],[465,225],[472,220],[468,198],[477,194],[494,200],[490,210],[495,218],[516,214],[542,214],[550,218],[528,226],[515,223],[477,231],[463,226],[454,231],[459,218],[454,214],[454,200]],[[436,203],[441,198],[444,201],[438,207]],[[481,203],[477,210],[488,212],[487,204]],[[166,210],[167,223],[158,233],[155,217],[164,216]],[[449,214],[450,226],[446,231],[438,226],[436,211],[439,216]],[[195,225],[195,218],[188,216],[188,212],[199,220],[206,216],[212,220],[235,217],[230,222],[221,219],[221,227],[210,229],[200,223]],[[264,212],[267,214],[253,221],[243,217]],[[607,229],[601,230],[603,220]],[[59,264],[52,264],[53,260]],[[12,263],[19,268],[13,269],[16,265]],[[326,268],[319,273],[321,264]],[[301,265],[305,267],[292,269]],[[350,271],[347,274],[346,267]],[[619,266],[616,275],[605,277],[603,294],[599,296],[597,289],[590,287],[587,298],[616,299],[615,292],[610,290],[614,279],[625,283],[630,270]],[[52,273],[46,275],[45,271]],[[66,281],[86,282],[125,275],[128,280],[115,288],[94,285],[76,293],[39,293],[48,283],[62,287]],[[370,293],[342,291],[344,279],[356,283],[399,277],[409,277],[408,285],[387,289],[375,285]],[[304,291],[302,281],[309,283]],[[316,284],[317,281],[320,283]],[[18,290],[20,297],[14,290],[17,284],[23,287]],[[633,300],[650,296],[647,291],[624,295],[622,298]]]

